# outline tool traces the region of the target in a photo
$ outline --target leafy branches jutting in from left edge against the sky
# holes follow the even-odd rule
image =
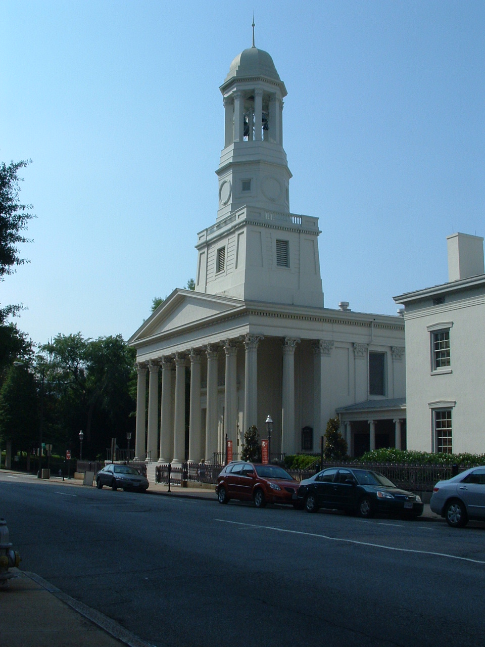
[[[34,217],[30,213],[32,205],[19,201],[20,182],[23,181],[19,177],[19,171],[28,164],[25,160],[10,162],[8,166],[5,162],[0,164],[0,281],[12,274],[16,265],[27,262],[21,258],[17,245],[30,242],[22,232]],[[16,314],[20,309],[20,305],[4,305],[0,308],[0,323],[4,323],[9,315]]]

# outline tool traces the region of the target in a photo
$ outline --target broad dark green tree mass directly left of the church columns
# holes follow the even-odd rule
[[[135,431],[135,349],[121,335],[84,339],[59,334],[41,347],[36,367],[45,374],[45,436],[62,448],[104,455],[116,437]],[[135,385],[135,386],[134,386]]]

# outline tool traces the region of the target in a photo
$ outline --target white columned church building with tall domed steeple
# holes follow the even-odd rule
[[[226,437],[235,455],[253,424],[266,437],[268,415],[272,457],[319,452],[336,413],[350,455],[405,448],[404,318],[324,306],[318,218],[290,211],[270,54],[241,52],[220,89],[219,210],[197,234],[195,291],[173,291],[129,340],[136,457],[220,461]]]

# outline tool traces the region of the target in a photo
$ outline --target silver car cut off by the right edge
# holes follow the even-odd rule
[[[485,466],[438,481],[429,506],[453,528],[463,527],[469,520],[485,520]]]

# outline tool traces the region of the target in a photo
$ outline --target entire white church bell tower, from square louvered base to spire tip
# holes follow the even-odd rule
[[[254,25],[253,25],[254,27]],[[254,45],[221,85],[224,148],[215,224],[199,232],[195,289],[243,300],[323,307],[318,218],[290,213],[283,149],[285,83]]]

